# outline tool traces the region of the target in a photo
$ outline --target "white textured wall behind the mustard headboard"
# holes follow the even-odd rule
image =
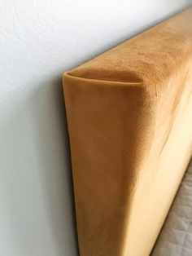
[[[188,3],[1,0],[0,255],[77,255],[62,73]]]

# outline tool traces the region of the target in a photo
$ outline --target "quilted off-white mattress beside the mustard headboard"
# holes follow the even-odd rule
[[[152,256],[192,256],[192,160]]]

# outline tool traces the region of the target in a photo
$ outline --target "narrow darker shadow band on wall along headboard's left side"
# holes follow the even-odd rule
[[[67,256],[66,249],[69,245],[74,248],[74,241],[76,255],[79,255],[62,77],[52,82],[49,80],[47,85],[44,82],[42,86],[38,86],[38,90],[31,97],[33,121],[39,133],[37,148],[41,163],[41,185],[55,248],[58,249],[56,255]],[[55,132],[59,129],[61,133],[56,135]],[[63,159],[63,165],[61,165],[61,159]],[[74,241],[72,241],[72,235]]]

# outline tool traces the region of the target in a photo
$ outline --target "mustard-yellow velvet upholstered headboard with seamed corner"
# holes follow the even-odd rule
[[[192,10],[63,76],[81,256],[147,256],[192,152]]]

